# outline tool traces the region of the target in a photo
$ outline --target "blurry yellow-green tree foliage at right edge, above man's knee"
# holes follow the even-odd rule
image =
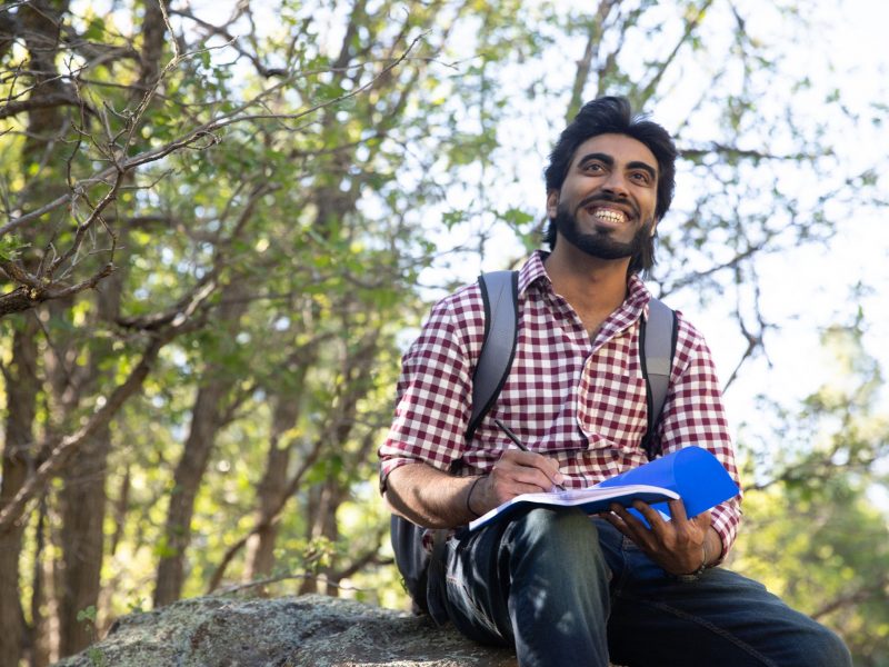
[[[886,665],[889,633],[889,522],[872,497],[882,484],[889,421],[879,410],[879,365],[862,345],[861,321],[828,329],[835,381],[810,395],[780,449],[748,442],[747,530],[732,565],[836,628],[856,664]],[[775,414],[762,398],[763,414]],[[778,412],[780,415],[780,412]]]

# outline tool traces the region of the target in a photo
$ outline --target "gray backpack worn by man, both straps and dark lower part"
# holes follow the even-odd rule
[[[485,305],[485,338],[472,375],[472,414],[466,431],[467,440],[472,438],[478,425],[497,401],[516,357],[519,335],[518,283],[518,271],[491,271],[479,276]],[[648,425],[642,448],[649,460],[659,454],[655,428],[670,384],[677,331],[676,313],[652,297],[648,320],[642,319],[639,330],[639,360],[648,402]],[[449,531],[433,531],[432,554],[429,554],[422,545],[426,528],[396,515],[392,515],[389,526],[396,565],[414,603],[414,610],[427,611],[437,621],[443,621],[447,618],[443,607],[436,599],[437,596],[427,596],[427,586],[430,570],[443,567],[443,545]]]

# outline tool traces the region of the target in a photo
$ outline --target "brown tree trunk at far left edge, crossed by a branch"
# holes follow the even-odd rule
[[[33,465],[33,426],[40,381],[37,375],[37,320],[23,316],[12,338],[6,374],[7,422],[0,476],[0,508],[16,496]],[[18,665],[26,638],[19,591],[19,555],[27,521],[0,531],[0,665]]]

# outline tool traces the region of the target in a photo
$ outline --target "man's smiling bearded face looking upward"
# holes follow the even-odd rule
[[[599,135],[581,143],[547,213],[569,243],[601,259],[632,257],[655,230],[658,161],[641,141]]]

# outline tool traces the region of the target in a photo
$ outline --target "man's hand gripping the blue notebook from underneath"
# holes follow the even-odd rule
[[[710,532],[709,511],[689,519],[682,501],[670,500],[672,518],[666,520],[646,502],[637,500],[632,506],[646,518],[648,526],[620,505],[612,505],[611,511],[601,516],[671,575],[687,575],[701,566],[710,552],[705,550]]]

